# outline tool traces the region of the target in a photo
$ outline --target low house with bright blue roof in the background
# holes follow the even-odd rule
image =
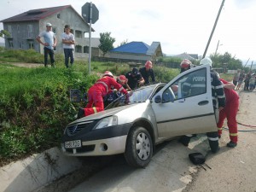
[[[156,61],[156,58],[160,56],[163,56],[160,42],[153,42],[149,46],[143,42],[133,41],[108,52],[109,58],[127,61]]]

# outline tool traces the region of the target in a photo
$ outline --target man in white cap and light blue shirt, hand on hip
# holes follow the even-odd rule
[[[44,38],[44,42],[41,40],[41,38]],[[51,67],[55,67],[54,48],[57,44],[57,40],[55,38],[55,33],[52,32],[52,25],[50,23],[46,23],[46,30],[41,32],[36,39],[39,44],[44,45],[44,67],[47,67],[48,65],[48,55]]]

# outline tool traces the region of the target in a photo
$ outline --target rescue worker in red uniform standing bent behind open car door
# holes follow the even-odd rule
[[[239,96],[234,90],[236,85],[229,83],[224,79],[219,79],[224,84],[224,93],[226,97],[226,105],[223,110],[219,112],[218,119],[218,137],[221,137],[222,126],[224,125],[224,119],[227,119],[227,124],[230,132],[230,143],[227,143],[227,147],[235,148],[237,145],[237,122],[236,114],[239,108]]]

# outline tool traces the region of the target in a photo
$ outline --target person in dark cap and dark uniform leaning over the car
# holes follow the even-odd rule
[[[132,68],[130,72],[125,74],[125,78],[128,79],[128,85],[131,87],[131,90],[135,90],[145,83],[142,74],[137,68]]]

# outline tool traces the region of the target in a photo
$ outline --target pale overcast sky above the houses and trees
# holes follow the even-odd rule
[[[40,2],[40,1],[39,1]],[[81,0],[1,0],[0,20],[31,9],[72,5],[81,14]],[[160,42],[166,55],[203,55],[223,0],[95,0],[99,20],[92,24],[100,38],[111,32],[114,47],[124,41],[152,44]],[[90,3],[90,2],[88,2]],[[207,56],[229,52],[245,64],[256,63],[256,1],[225,0],[224,7],[207,49]],[[0,30],[3,23],[0,23]],[[3,42],[3,38],[0,38]],[[218,43],[219,42],[219,43]]]

